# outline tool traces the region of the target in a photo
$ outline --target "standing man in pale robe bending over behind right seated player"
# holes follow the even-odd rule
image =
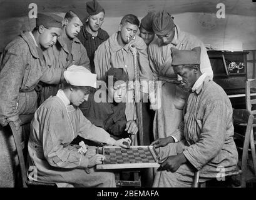
[[[182,109],[187,98],[187,91],[180,87],[180,81],[172,68],[171,47],[190,50],[196,46],[201,47],[202,73],[207,73],[212,79],[213,72],[207,50],[202,41],[188,32],[181,31],[173,22],[168,11],[158,11],[152,21],[155,39],[148,46],[148,58],[153,71],[153,78],[161,81],[161,108],[156,110],[154,121],[154,137],[165,138],[178,128],[182,120]],[[158,104],[158,103],[157,103]]]

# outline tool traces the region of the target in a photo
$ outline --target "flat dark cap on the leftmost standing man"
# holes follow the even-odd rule
[[[38,13],[36,18],[36,26],[59,27],[62,28],[63,17],[52,13]]]

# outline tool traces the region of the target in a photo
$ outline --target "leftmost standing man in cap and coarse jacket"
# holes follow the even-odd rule
[[[14,187],[15,149],[6,125],[13,121],[19,129],[19,114],[32,114],[38,105],[35,88],[40,79],[59,83],[62,69],[46,67],[43,51],[61,35],[63,18],[55,14],[38,14],[33,31],[21,33],[4,48],[0,59],[0,187]]]

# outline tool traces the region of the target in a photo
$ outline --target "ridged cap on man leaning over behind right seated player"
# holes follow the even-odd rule
[[[172,31],[175,24],[173,17],[168,11],[158,11],[153,17],[152,28],[156,35],[165,36]]]

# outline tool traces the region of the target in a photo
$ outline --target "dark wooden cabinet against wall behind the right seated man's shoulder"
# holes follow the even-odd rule
[[[222,86],[227,94],[245,94],[247,81],[247,51],[208,51],[212,64],[213,80]],[[232,63],[237,69],[231,68]]]

